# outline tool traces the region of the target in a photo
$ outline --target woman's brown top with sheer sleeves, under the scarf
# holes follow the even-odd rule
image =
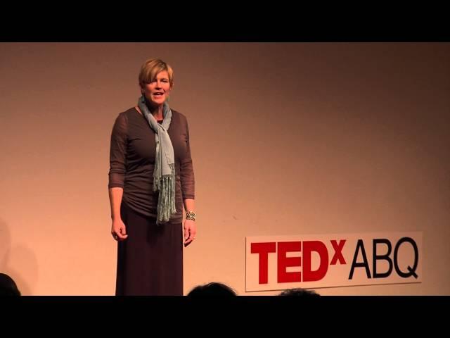
[[[170,223],[183,220],[183,200],[195,198],[194,172],[186,116],[172,109],[169,126],[175,156],[175,208]],[[122,201],[142,215],[156,217],[158,191],[153,192],[155,132],[146,118],[129,108],[116,118],[110,145],[108,188],[124,189]]]

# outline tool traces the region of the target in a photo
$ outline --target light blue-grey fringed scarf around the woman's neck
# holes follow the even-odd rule
[[[172,111],[167,102],[162,108],[164,120],[162,123],[153,117],[146,105],[146,99],[141,96],[138,106],[148,121],[150,128],[155,132],[156,155],[153,169],[153,191],[160,191],[158,197],[158,211],[156,224],[166,223],[170,216],[176,213],[175,208],[175,156],[174,147],[170,141],[169,129],[172,120]]]

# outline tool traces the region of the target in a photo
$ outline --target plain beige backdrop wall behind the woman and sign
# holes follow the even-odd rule
[[[114,294],[110,132],[155,56],[191,130],[185,292],[245,294],[245,236],[421,231],[423,283],[319,292],[450,294],[450,44],[3,43],[0,271],[23,294]]]

